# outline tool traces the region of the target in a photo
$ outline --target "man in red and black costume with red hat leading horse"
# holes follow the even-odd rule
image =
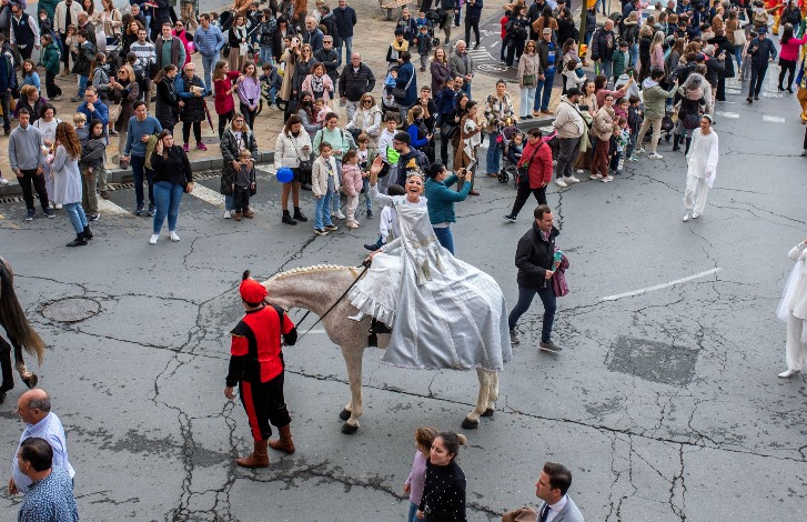
[[[251,455],[236,459],[244,468],[269,466],[266,445],[273,450],[294,453],[294,441],[290,429],[291,416],[283,399],[283,341],[291,345],[297,340],[297,330],[283,310],[266,307],[266,289],[244,272],[241,287],[242,304],[246,314],[231,333],[230,371],[224,395],[235,398],[233,388],[239,387],[241,402],[250,421],[254,451]],[[278,426],[280,440],[269,441],[272,426]]]

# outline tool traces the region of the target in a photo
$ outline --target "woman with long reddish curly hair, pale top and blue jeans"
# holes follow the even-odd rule
[[[73,126],[67,121],[57,126],[54,147],[54,152],[46,159],[53,175],[53,201],[67,211],[75,230],[75,239],[68,247],[83,247],[92,239],[92,232],[81,207],[81,142]]]

